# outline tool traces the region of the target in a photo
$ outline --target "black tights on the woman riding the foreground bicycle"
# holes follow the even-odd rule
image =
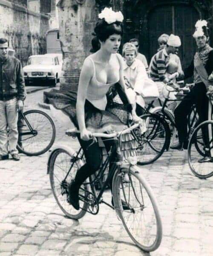
[[[92,143],[92,140],[81,140],[80,135],[78,135],[78,141],[83,148],[83,152],[86,157],[86,163],[78,170],[75,176],[75,181],[72,183],[72,187],[74,186],[75,190],[78,190],[81,184],[89,176],[98,171],[101,166],[102,160],[102,149],[98,145],[98,142],[90,145]],[[106,140],[106,138],[103,138],[103,142],[107,149],[107,152],[109,152],[111,147],[114,145],[114,140]],[[115,156],[116,154],[112,154],[110,157],[111,159],[109,163],[109,171],[114,170],[115,163],[113,162],[115,162]],[[112,178],[109,180],[109,186],[112,190]]]

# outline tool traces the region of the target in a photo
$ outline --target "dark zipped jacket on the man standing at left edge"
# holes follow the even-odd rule
[[[17,99],[26,98],[23,71],[20,61],[12,56],[8,56],[6,61],[0,64],[1,85],[0,94],[4,97],[17,96]]]

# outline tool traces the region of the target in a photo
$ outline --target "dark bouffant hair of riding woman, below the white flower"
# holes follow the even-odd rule
[[[110,35],[123,35],[123,25],[119,21],[108,24],[104,19],[98,20],[95,25],[95,34],[101,42],[105,42]]]

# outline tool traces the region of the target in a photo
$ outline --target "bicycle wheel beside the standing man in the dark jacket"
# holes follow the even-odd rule
[[[31,129],[24,120],[24,128],[20,132],[17,149],[20,153],[27,156],[39,156],[48,151],[55,141],[55,124],[52,118],[45,112],[40,110],[29,110],[23,113],[35,134],[30,133]],[[22,147],[20,146],[20,143]]]

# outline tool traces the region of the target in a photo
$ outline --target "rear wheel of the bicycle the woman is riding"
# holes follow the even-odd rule
[[[61,154],[64,154],[64,156],[60,157]],[[62,160],[60,158],[59,158],[59,160],[57,160],[58,157],[62,158]],[[67,201],[68,194],[66,192],[63,194],[63,192],[62,192],[63,191],[62,181],[64,183],[64,177],[67,175],[67,173],[70,169],[72,159],[73,159],[73,156],[70,155],[69,152],[67,152],[64,149],[57,149],[55,152],[53,152],[52,157],[49,161],[49,180],[50,180],[51,189],[52,189],[54,198],[55,198],[58,206],[62,210],[62,212],[67,217],[77,220],[77,219],[82,218],[86,214],[86,210],[88,209],[88,204],[85,201],[79,201],[80,207],[83,209],[76,210]],[[59,167],[60,163],[62,163],[62,165]],[[78,171],[78,169],[80,168],[80,166],[81,166],[80,160],[73,160],[72,169],[75,168],[76,170],[74,170],[75,172],[73,172],[72,174],[70,172],[70,175],[72,175],[72,176],[70,176],[70,175],[68,176],[69,180],[66,181],[68,184],[75,178],[75,174]],[[57,168],[60,169],[58,174],[57,174]],[[64,170],[64,169],[66,169],[66,170]],[[72,169],[71,169],[71,171],[72,171]],[[64,175],[64,176],[62,178],[59,178],[59,175],[62,175],[62,176]],[[59,191],[61,192],[59,194],[57,193],[57,188],[56,188],[57,182],[59,183],[58,187],[59,187]],[[83,184],[81,186],[81,188],[84,189],[84,190],[80,189],[82,195],[83,195],[83,193],[86,193],[86,191],[88,191],[87,184]]]

